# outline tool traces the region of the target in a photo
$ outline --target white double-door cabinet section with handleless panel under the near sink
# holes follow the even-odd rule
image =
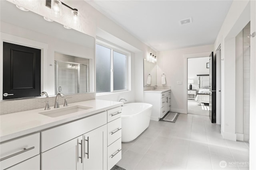
[[[42,131],[42,170],[106,169],[106,123],[107,114],[104,111]]]

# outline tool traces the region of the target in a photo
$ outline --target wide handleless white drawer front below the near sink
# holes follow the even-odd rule
[[[66,141],[96,129],[107,123],[106,111],[41,131],[41,150],[45,152]]]

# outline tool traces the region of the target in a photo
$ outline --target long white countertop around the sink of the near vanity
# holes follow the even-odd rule
[[[106,111],[110,108],[121,106],[122,104],[122,102],[107,100],[87,100],[84,102],[71,103],[68,104],[67,107],[79,105],[92,108],[59,117],[49,117],[40,114],[39,112],[44,111],[44,108],[0,115],[0,142],[81,119],[83,117]],[[63,106],[60,106],[60,108],[63,108]],[[51,110],[53,109],[55,110],[59,108],[53,108],[52,106]]]

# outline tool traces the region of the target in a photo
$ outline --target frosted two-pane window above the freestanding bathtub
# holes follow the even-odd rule
[[[127,90],[127,56],[96,44],[96,93]]]

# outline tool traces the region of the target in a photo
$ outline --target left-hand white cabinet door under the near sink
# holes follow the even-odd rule
[[[82,170],[82,140],[80,136],[43,152],[42,170]]]

